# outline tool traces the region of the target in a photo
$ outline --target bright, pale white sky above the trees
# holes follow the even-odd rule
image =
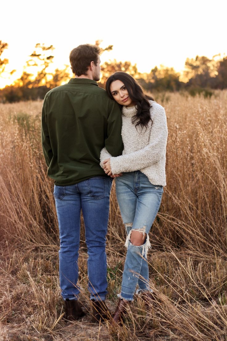
[[[116,59],[137,64],[139,72],[156,65],[181,72],[187,57],[227,53],[227,2],[223,0],[8,0],[1,4],[0,40],[9,44],[0,88],[18,78],[36,43],[53,45],[54,68],[69,64],[71,49],[80,44],[101,47],[101,62]]]

